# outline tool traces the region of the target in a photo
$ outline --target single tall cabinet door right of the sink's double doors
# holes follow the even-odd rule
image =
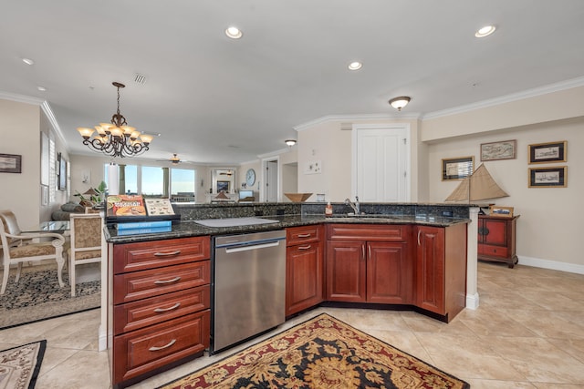
[[[416,305],[444,314],[444,229],[418,226],[416,231]]]

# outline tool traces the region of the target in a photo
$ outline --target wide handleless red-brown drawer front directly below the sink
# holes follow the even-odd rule
[[[405,224],[328,224],[327,240],[407,241],[411,230]]]

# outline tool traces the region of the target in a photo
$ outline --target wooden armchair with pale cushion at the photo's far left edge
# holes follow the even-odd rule
[[[17,265],[15,282],[18,282],[22,264],[27,261],[57,261],[58,284],[61,288],[64,286],[61,274],[65,264],[63,258],[65,238],[63,235],[53,232],[22,232],[18,227],[15,214],[11,210],[0,210],[0,240],[4,263],[0,294],[4,294],[6,291],[10,265]]]

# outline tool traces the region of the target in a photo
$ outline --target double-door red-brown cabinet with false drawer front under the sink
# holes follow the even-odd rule
[[[408,225],[329,225],[327,300],[411,303],[410,231]]]

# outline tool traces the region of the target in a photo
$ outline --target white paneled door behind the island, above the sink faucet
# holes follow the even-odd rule
[[[410,200],[410,131],[406,125],[356,126],[355,195],[360,201]]]

